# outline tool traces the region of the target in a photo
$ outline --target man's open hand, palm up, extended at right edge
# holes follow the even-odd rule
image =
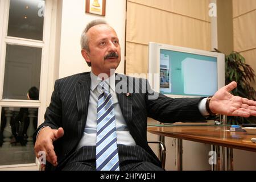
[[[210,100],[210,110],[213,113],[250,117],[250,115],[256,116],[256,102],[242,98],[239,96],[233,96],[229,93],[231,90],[237,87],[235,81],[219,89],[212,100]]]

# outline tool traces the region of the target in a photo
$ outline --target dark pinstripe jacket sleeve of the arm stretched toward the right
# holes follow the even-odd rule
[[[199,110],[203,98],[170,98],[154,92],[147,82],[146,106],[148,117],[160,122],[197,122],[205,121]]]

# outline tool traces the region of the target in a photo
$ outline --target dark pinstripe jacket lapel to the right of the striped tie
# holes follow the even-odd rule
[[[125,121],[127,122],[127,125],[131,124],[132,114],[133,114],[133,105],[132,105],[132,94],[128,93],[128,86],[127,86],[127,77],[124,75],[116,75],[115,78],[115,89],[119,89],[120,86],[126,86],[127,92],[117,93],[117,98],[119,105],[122,110],[123,118],[125,118]]]

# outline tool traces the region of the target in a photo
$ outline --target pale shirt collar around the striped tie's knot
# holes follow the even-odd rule
[[[90,72],[90,79],[91,84],[90,84],[90,89],[92,91],[94,91],[94,89],[96,89],[96,87],[98,86],[98,84],[100,84],[100,82],[102,81],[100,77],[94,75],[94,73],[91,71]],[[111,75],[110,77],[106,78],[104,81],[106,81],[109,85],[110,85],[110,92],[115,92],[115,74]]]

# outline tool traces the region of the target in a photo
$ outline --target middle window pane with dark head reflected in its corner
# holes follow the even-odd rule
[[[41,57],[42,48],[7,44],[4,99],[39,100]]]

